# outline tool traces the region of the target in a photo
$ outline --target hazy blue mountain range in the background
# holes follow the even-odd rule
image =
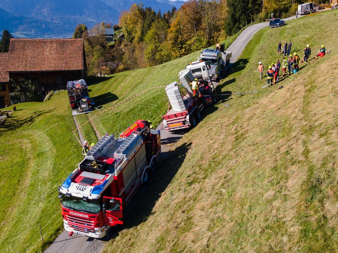
[[[119,14],[143,3],[156,12],[177,9],[184,1],[169,0],[2,0],[0,31],[18,38],[68,38],[77,24],[93,27],[100,22],[117,24]]]

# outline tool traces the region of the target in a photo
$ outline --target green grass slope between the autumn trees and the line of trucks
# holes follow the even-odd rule
[[[236,39],[236,36],[224,41],[225,47],[227,48],[228,44],[231,44],[234,39]],[[200,52],[198,51],[154,67],[116,73],[109,77],[90,77],[87,80],[90,85],[90,96],[94,98],[96,106],[104,106],[100,109],[100,111],[103,111],[150,87],[168,85],[178,81],[178,72],[184,69],[189,62],[197,60],[199,55]],[[92,122],[100,135],[106,132],[123,132],[130,125],[131,118],[133,120],[149,119],[157,125],[162,121],[162,115],[166,113],[168,107],[168,98],[164,89],[148,90],[127,103],[100,115],[98,115],[100,111],[96,110],[89,114],[78,115],[76,118],[81,125],[88,118],[98,115]],[[89,142],[97,141],[90,124],[82,126],[81,132],[84,139],[89,140]]]

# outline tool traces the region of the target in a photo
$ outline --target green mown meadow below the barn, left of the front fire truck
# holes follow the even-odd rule
[[[44,103],[22,103],[0,127],[0,249],[17,252],[60,209],[57,186],[74,170],[81,150],[65,91]],[[57,214],[43,230],[50,242],[61,227]],[[41,247],[33,238],[29,251]]]

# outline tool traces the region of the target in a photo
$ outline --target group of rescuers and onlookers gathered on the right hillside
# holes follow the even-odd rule
[[[283,53],[284,53],[283,61],[280,62],[280,60],[277,59],[276,63],[271,63],[271,65],[268,67],[268,70],[266,72],[268,87],[270,87],[271,85],[274,85],[275,83],[279,81],[279,73],[280,73],[281,66],[282,66],[282,71],[283,71],[282,77],[286,75],[289,76],[293,73],[298,72],[300,57],[298,56],[296,52],[294,52],[293,55],[291,55],[291,47],[292,47],[291,41],[289,41],[289,43],[285,41],[284,50],[283,50]],[[282,50],[282,43],[280,42],[277,48],[277,55],[281,54],[281,50]],[[321,45],[315,57],[315,60],[317,60],[318,57],[323,57],[327,53],[328,52],[325,49],[324,45]],[[286,55],[288,55],[287,59],[286,59]],[[310,56],[311,56],[311,48],[310,48],[310,45],[308,44],[303,50],[303,59],[301,62],[308,62]],[[264,65],[261,61],[258,62],[257,72],[259,72],[259,79],[262,80],[263,72],[264,72]]]

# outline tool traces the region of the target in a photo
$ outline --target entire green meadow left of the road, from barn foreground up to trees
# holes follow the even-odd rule
[[[168,84],[167,78],[170,76],[173,77],[172,81],[176,80],[178,70],[186,62],[196,59],[198,54],[166,63],[165,67],[139,69],[108,78],[89,78],[92,84],[90,95],[95,97],[97,105],[107,108],[149,87]],[[172,75],[167,73],[168,69]],[[163,83],[155,81],[161,78],[165,80]],[[102,114],[101,118],[95,119],[95,123],[101,134],[122,131],[131,120],[138,118],[149,118],[158,123],[166,106],[164,89],[152,90],[118,107],[117,111]],[[21,103],[17,108],[19,111],[0,127],[0,250],[5,252],[18,251],[39,231],[39,223],[44,227],[60,210],[57,186],[62,184],[81,159],[81,149],[71,132],[75,124],[67,93],[54,94],[51,100],[44,103]],[[82,124],[97,113],[76,117]],[[91,124],[83,126],[81,132],[90,143],[97,141]],[[52,242],[61,229],[61,215],[57,214],[43,229],[45,245],[41,245],[38,234],[24,250],[41,251],[41,247],[45,248]]]

